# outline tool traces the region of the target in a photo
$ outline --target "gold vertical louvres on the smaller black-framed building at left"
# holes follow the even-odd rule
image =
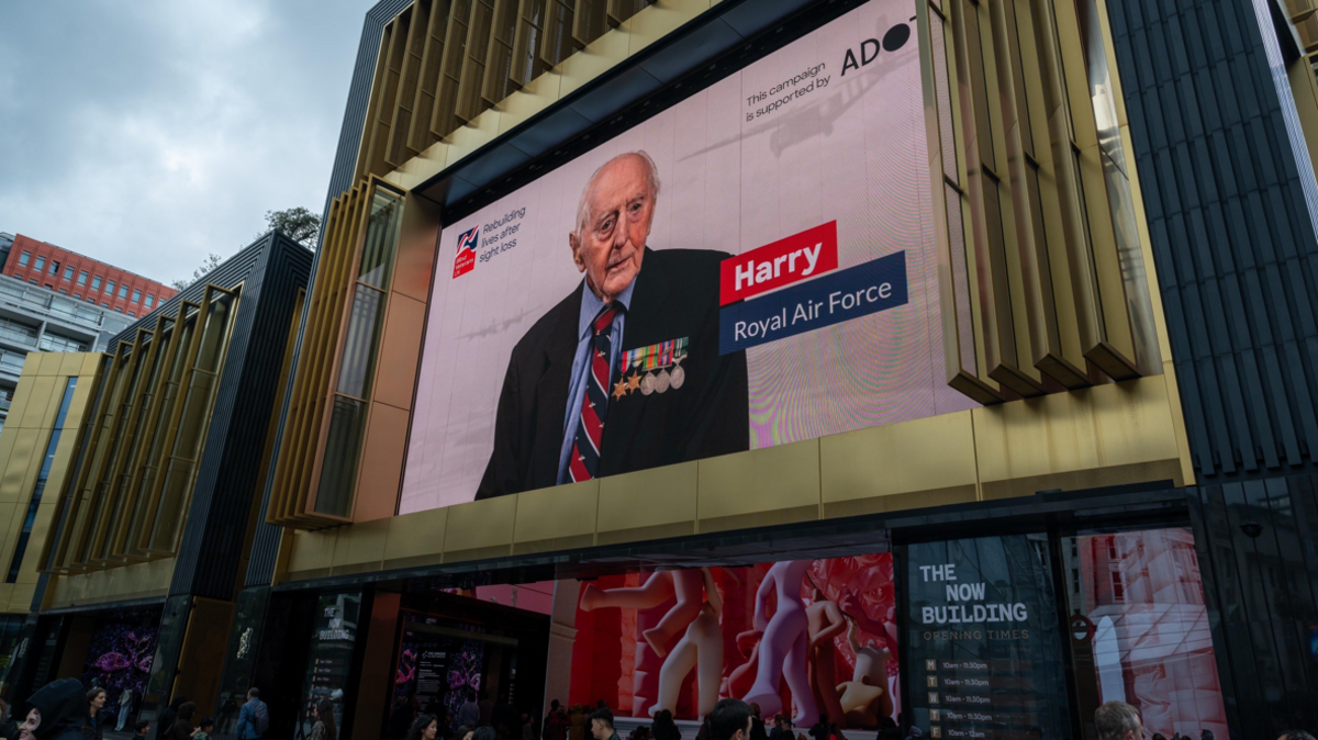
[[[42,571],[101,570],[178,552],[239,290],[207,286],[200,303],[179,302],[177,315],[157,316],[115,348]]]

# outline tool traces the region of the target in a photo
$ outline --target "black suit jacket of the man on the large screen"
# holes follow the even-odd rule
[[[680,388],[609,396],[600,475],[726,454],[750,446],[746,353],[718,354],[722,251],[646,249],[621,352],[689,337]],[[577,350],[581,284],[513,348],[477,499],[558,483],[563,423]],[[613,382],[618,381],[614,363]],[[612,390],[612,388],[610,388]]]

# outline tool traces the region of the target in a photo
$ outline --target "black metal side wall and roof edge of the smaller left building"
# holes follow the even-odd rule
[[[207,283],[243,284],[170,594],[233,599],[252,496],[261,486],[257,473],[265,432],[282,391],[277,384],[289,323],[310,270],[311,251],[272,232],[157,309],[177,313],[179,300],[200,302]],[[141,319],[113,341],[149,325],[154,325],[154,316]],[[269,527],[264,520],[261,525]]]

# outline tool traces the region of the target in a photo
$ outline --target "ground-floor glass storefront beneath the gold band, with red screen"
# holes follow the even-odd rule
[[[484,574],[460,589],[418,579],[376,591],[369,619],[361,595],[320,594],[303,698],[360,702],[368,714],[348,722],[385,737],[423,712],[451,733],[468,702],[517,732],[555,699],[568,723],[602,702],[622,735],[667,711],[695,736],[728,697],[797,733],[826,718],[849,740],[911,726],[1093,740],[1094,710],[1112,699],[1140,711],[1147,735],[1227,736],[1189,528],[892,537],[890,552],[841,557],[521,585]],[[358,635],[358,621],[390,627]],[[366,654],[368,643],[391,650]],[[352,666],[376,662],[358,686]]]

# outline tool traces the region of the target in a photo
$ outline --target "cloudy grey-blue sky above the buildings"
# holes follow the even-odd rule
[[[0,1],[0,232],[169,282],[319,213],[373,1]]]

